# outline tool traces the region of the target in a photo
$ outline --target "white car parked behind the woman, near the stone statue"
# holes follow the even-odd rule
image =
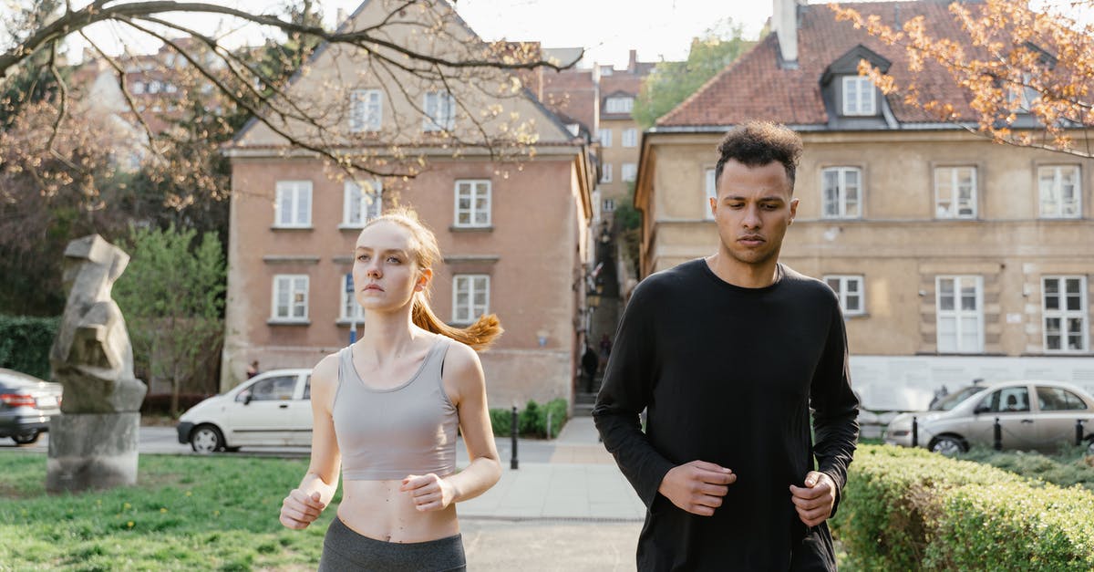
[[[311,369],[274,369],[178,417],[178,443],[197,453],[312,444]]]

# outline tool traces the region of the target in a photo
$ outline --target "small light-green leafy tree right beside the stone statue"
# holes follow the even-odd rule
[[[129,266],[114,286],[133,344],[133,369],[151,385],[171,382],[171,412],[186,386],[217,387],[224,336],[225,266],[220,240],[194,229],[131,228],[120,248]]]

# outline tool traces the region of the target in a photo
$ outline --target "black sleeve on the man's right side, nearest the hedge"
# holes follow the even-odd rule
[[[810,388],[817,469],[836,482],[831,516],[836,516],[847,483],[847,467],[859,438],[859,399],[851,391],[849,368],[847,330],[838,302],[834,301],[828,339]]]

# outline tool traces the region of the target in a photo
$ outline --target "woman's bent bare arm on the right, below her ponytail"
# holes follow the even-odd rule
[[[407,476],[401,490],[411,493],[419,511],[440,511],[452,503],[474,499],[501,478],[501,462],[486,403],[486,378],[475,351],[453,343],[444,359],[443,380],[445,389],[454,397],[452,401],[459,415],[459,430],[470,464],[445,478]]]

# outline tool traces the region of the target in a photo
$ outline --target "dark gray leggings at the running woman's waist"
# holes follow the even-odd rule
[[[424,542],[385,542],[361,536],[335,517],[323,539],[319,572],[449,572],[467,570],[461,535]]]

